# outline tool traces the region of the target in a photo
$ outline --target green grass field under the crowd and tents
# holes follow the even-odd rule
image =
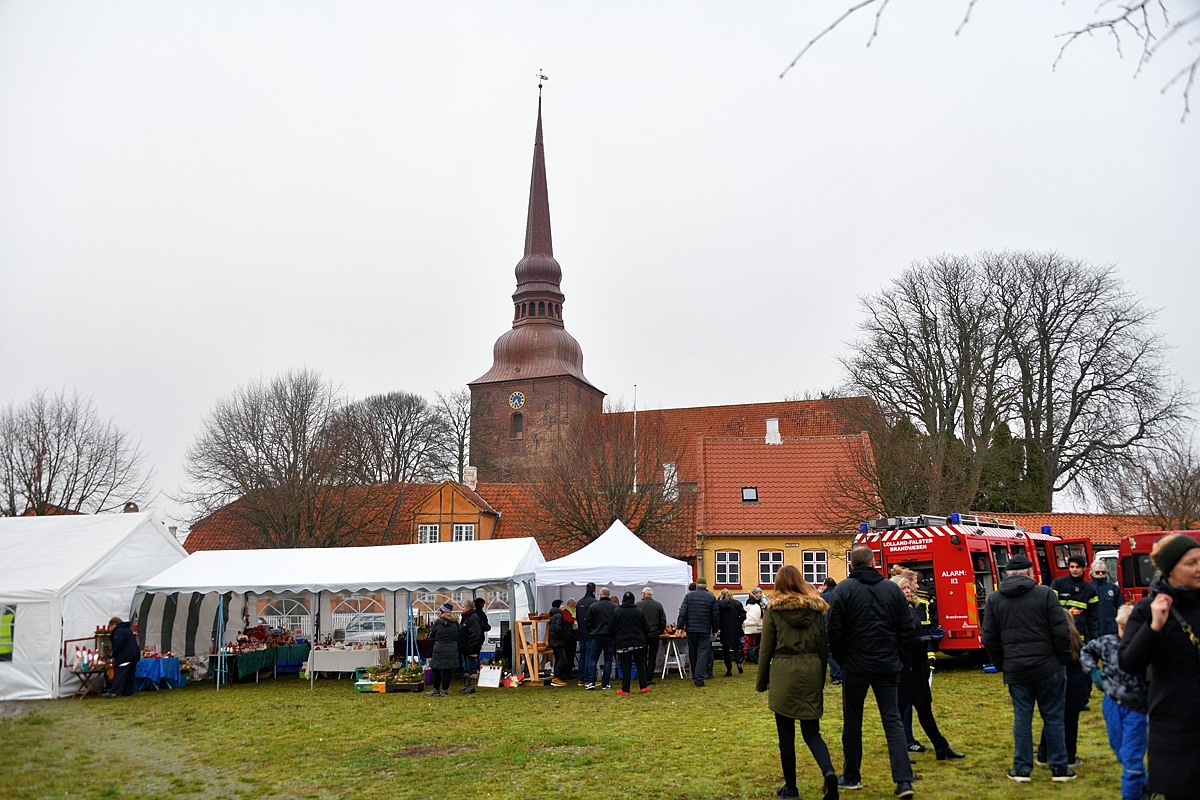
[[[755,669],[703,690],[668,678],[632,697],[574,685],[461,696],[461,680],[449,698],[355,694],[344,679],[318,680],[310,692],[290,676],[220,692],[194,685],[113,700],[0,704],[0,796],[770,799],[781,784],[779,756]],[[1000,675],[940,668],[934,696],[942,732],[967,758],[916,756],[918,798],[1118,796],[1097,693],[1080,720],[1085,764],[1064,784],[1051,783],[1044,768],[1031,784],[1004,777],[1012,709]],[[890,798],[894,788],[870,698],[866,714],[865,788],[842,793],[853,800]],[[840,770],[838,687],[827,688],[822,733]],[[917,738],[928,744],[919,727]],[[820,775],[803,744],[797,759],[802,796],[818,798]]]

